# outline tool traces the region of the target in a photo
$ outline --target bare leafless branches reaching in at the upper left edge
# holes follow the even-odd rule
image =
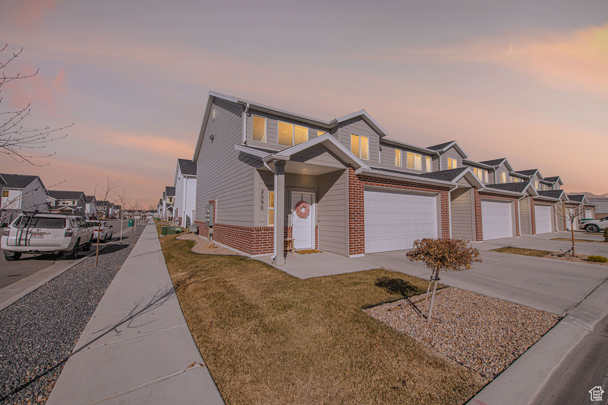
[[[0,52],[4,51],[7,46],[9,46],[9,44],[6,44],[4,48],[0,49]],[[0,69],[3,69],[12,60],[17,58],[22,51],[23,48],[21,48],[19,52],[13,53],[13,55],[10,56],[9,60],[6,62],[0,61]],[[15,75],[7,76],[4,73],[1,74],[0,87],[13,80],[33,77],[38,74],[38,70],[30,75],[21,75],[21,73],[16,73]],[[0,97],[0,103],[2,103],[2,97]],[[30,104],[27,104],[26,107],[18,109],[17,111],[0,112],[0,152],[5,155],[9,155],[9,157],[19,163],[27,162],[33,166],[46,166],[49,165],[50,162],[45,163],[44,165],[38,165],[32,162],[32,159],[49,157],[54,155],[55,152],[47,155],[34,155],[30,154],[32,153],[30,151],[33,149],[43,149],[46,147],[44,144],[67,137],[67,134],[55,138],[50,138],[49,136],[53,132],[71,127],[74,125],[74,123],[55,129],[50,129],[49,127],[24,129],[21,121],[23,121],[30,114],[30,112]]]

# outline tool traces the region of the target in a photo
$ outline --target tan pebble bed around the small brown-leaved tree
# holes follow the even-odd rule
[[[390,327],[443,353],[486,378],[496,377],[555,325],[560,317],[471,291],[444,288],[426,322],[402,299],[365,309]],[[410,301],[424,298],[412,297]],[[404,309],[389,311],[404,302]],[[424,302],[415,304],[424,312]]]

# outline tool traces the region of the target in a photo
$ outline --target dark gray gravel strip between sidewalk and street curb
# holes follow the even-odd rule
[[[0,311],[0,403],[45,403],[144,226]],[[82,253],[81,253],[82,254]],[[74,389],[82,389],[74,387]]]

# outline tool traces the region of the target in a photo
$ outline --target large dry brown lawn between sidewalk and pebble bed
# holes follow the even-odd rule
[[[385,269],[300,280],[161,238],[192,336],[227,404],[461,404],[480,375],[366,315],[426,292]]]

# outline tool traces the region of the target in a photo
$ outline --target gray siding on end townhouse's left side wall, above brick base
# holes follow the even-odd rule
[[[206,205],[217,200],[215,222],[254,225],[254,165],[259,160],[234,149],[241,143],[243,107],[216,98],[215,119],[207,122],[196,163],[196,220],[204,222]],[[210,135],[213,134],[213,140]]]

